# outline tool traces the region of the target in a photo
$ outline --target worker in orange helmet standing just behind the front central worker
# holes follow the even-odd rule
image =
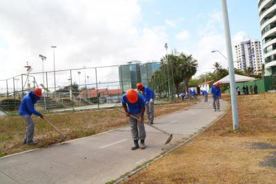
[[[148,115],[148,123],[153,124],[153,120],[155,119],[155,92],[153,90],[141,83],[137,83],[137,90],[140,90],[143,93],[144,99],[146,101],[146,113]]]

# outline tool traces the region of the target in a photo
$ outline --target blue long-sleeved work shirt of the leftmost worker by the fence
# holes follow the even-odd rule
[[[41,113],[34,109],[34,103],[37,103],[37,100],[40,98],[34,94],[34,92],[29,92],[24,96],[20,103],[19,107],[19,115],[25,116],[35,114],[37,116],[41,116]]]

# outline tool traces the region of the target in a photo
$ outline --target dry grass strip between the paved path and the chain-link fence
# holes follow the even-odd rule
[[[187,108],[196,101],[175,103],[168,105],[156,105],[155,116],[168,114]],[[46,118],[61,132],[66,133],[66,140],[90,136],[99,132],[105,132],[124,125],[128,125],[126,116],[119,110],[99,110],[86,112],[70,112],[63,114],[48,114]],[[23,145],[22,140],[26,127],[19,116],[0,118],[0,156],[30,150],[35,147],[47,147],[58,143],[61,137],[45,121],[33,116],[35,122],[34,139],[39,141],[37,146]]]

